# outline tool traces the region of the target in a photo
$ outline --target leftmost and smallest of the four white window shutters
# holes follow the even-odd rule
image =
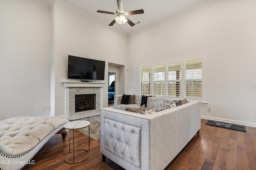
[[[140,68],[140,94],[150,95],[150,67]]]

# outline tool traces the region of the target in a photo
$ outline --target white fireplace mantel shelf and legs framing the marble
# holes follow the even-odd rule
[[[94,115],[100,115],[100,109],[103,107],[103,87],[106,86],[105,82],[62,82],[65,87],[65,117],[72,119],[81,119],[84,117],[90,117]],[[86,115],[71,116],[70,117],[70,88],[98,88],[100,91],[100,108],[98,113],[86,113]],[[72,96],[71,96],[72,97]]]

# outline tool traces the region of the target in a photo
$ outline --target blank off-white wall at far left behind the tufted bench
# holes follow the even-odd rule
[[[0,120],[50,115],[49,42],[49,8],[0,0]]]

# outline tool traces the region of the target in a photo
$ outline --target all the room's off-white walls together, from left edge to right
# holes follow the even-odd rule
[[[58,2],[0,0],[0,120],[50,107],[64,115],[68,55],[124,65],[120,91],[137,94],[138,64],[206,52],[202,117],[256,127],[255,9],[254,0],[213,0],[127,36]]]

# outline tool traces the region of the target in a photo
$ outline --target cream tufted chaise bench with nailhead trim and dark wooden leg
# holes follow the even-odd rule
[[[0,121],[0,170],[20,170],[56,133],[66,137],[64,117],[12,117]],[[32,163],[36,163],[33,162]]]

